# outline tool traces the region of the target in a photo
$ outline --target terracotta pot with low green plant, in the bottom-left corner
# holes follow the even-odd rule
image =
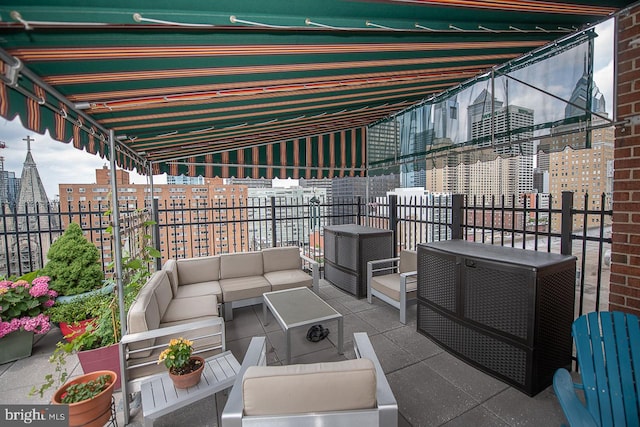
[[[69,426],[102,427],[111,418],[111,397],[117,379],[112,371],[80,375],[60,387],[52,402],[69,405]]]

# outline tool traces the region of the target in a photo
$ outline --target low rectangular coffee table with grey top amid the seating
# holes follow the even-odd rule
[[[338,353],[342,354],[344,324],[342,314],[327,304],[311,289],[293,288],[263,294],[264,324],[267,325],[267,307],[284,331],[287,365],[291,363],[291,329],[313,325],[328,320],[338,321]]]

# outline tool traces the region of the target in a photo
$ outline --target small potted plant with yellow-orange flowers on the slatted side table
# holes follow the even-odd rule
[[[158,364],[164,363],[176,388],[189,388],[200,382],[204,359],[193,356],[193,341],[174,338],[158,356]]]

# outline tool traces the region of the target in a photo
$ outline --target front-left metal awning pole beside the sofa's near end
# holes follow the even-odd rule
[[[120,336],[126,334],[127,313],[124,312],[124,285],[122,283],[122,241],[120,238],[120,209],[118,206],[118,180],[116,179],[116,138],[113,129],[109,130],[109,161],[111,163],[111,215],[113,218],[113,252],[115,271],[113,272],[118,291],[118,308],[120,312]],[[119,345],[120,353],[120,384],[124,409],[124,423],[129,422],[129,401],[127,396],[126,362],[124,348]]]

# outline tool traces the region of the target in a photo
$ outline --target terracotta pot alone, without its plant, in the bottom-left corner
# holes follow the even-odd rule
[[[93,399],[69,404],[69,427],[102,427],[111,418],[111,396],[113,395],[114,385],[118,381],[118,375],[113,371],[90,372],[66,382],[55,392],[52,402],[62,405],[62,396],[67,387],[71,384],[95,380],[100,375],[110,375],[112,378],[111,384]]]

